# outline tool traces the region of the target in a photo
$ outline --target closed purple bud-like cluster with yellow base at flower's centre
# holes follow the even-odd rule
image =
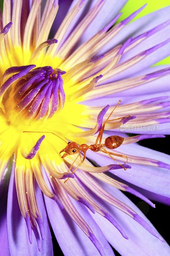
[[[10,93],[9,99],[3,101],[8,120],[11,121],[11,113],[12,116],[30,121],[46,120],[61,110],[65,102],[62,78],[65,73],[60,69],[45,66],[34,68],[21,76],[12,84],[11,91],[5,92]]]

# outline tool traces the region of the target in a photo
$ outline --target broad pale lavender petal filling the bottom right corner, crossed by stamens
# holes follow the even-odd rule
[[[114,194],[116,198],[122,200],[125,204],[129,205],[135,212],[137,212],[152,228],[152,224],[147,220],[142,212],[135,206],[126,196],[122,194],[118,189],[113,188],[103,182],[100,182],[102,187],[107,189],[109,193]],[[94,195],[92,195],[94,197]],[[129,240],[123,239],[122,236],[117,232],[111,224],[107,222],[101,216],[95,214],[93,215],[94,220],[97,222],[103,233],[105,234],[108,242],[122,255],[122,256],[168,256],[170,253],[170,247],[167,243],[163,243],[158,238],[151,235],[147,230],[145,230],[141,225],[139,225],[135,220],[127,216],[125,213],[121,212],[115,207],[109,205],[108,203],[103,203],[95,197],[95,200],[101,206],[105,207],[106,210],[113,215],[116,221],[121,225],[123,230],[125,230]],[[155,228],[154,228],[155,229]],[[112,238],[114,237],[114,239]]]

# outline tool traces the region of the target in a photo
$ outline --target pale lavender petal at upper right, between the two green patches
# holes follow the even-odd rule
[[[132,34],[134,37],[136,35],[139,35],[140,32],[141,33],[147,32],[147,30],[168,20],[169,10],[170,10],[170,7],[168,6],[161,10],[148,14],[130,23],[129,25],[125,26],[125,28],[123,28],[118,35],[116,35],[112,40],[110,40],[107,46],[104,47],[103,50],[100,51],[99,53],[105,53],[107,49],[110,49],[116,46],[117,44],[122,43],[123,42],[122,38],[130,37],[132,36]],[[170,25],[158,31],[154,35],[148,37],[146,40],[144,40],[139,45],[131,49],[129,52],[123,54],[120,62],[124,62],[125,60],[128,60],[129,58],[135,56],[136,54],[139,54],[140,52],[143,52],[149,48],[152,48],[156,44],[162,43],[163,41],[167,40],[169,38],[169,33],[168,33],[169,27]],[[129,75],[133,75],[136,72],[140,71],[141,69],[149,67],[152,64],[158,62],[159,60],[165,58],[170,54],[169,45],[170,43],[164,45],[162,48],[159,48],[157,51],[152,52],[151,55],[147,56],[136,65],[133,65],[133,67],[128,68],[127,70],[124,70],[123,72],[121,72],[121,74],[118,74],[117,76],[114,76],[114,81],[120,78],[127,77]]]

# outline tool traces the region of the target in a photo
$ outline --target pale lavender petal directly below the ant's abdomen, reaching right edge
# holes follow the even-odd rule
[[[166,154],[163,154],[161,152],[144,148],[142,146],[139,146],[137,143],[129,144],[129,145],[122,145],[121,146],[121,152],[126,155],[135,155],[135,156],[141,156],[141,157],[150,157],[156,159],[165,163],[168,163],[170,157]],[[90,154],[87,151],[87,157],[95,161],[97,164],[101,165],[103,163],[105,164],[111,164],[112,159],[106,156],[97,156],[97,154],[90,152]],[[137,187],[148,190],[152,193],[158,194],[160,196],[165,196],[170,198],[170,177],[169,177],[169,170],[165,168],[160,167],[154,167],[154,166],[148,166],[148,165],[140,165],[140,164],[131,164],[131,169],[124,170],[111,170],[114,175],[114,178],[116,177],[121,178],[124,180],[123,182],[126,184],[126,181],[135,184]],[[149,182],[148,182],[149,181]],[[147,196],[147,195],[146,195]],[[153,197],[152,197],[153,198]],[[157,200],[155,198],[154,200]]]

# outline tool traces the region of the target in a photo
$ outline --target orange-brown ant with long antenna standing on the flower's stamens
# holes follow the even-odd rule
[[[118,106],[118,104],[121,102],[121,100],[118,101],[118,103],[116,104],[115,108]],[[115,121],[117,119],[121,119],[122,117],[120,118],[117,118],[117,119],[110,119],[110,116],[113,114],[115,108],[112,110],[112,112],[110,113],[110,115],[107,117],[106,121],[103,123],[100,131],[99,131],[99,134],[97,136],[97,139],[96,139],[96,142],[95,144],[92,144],[90,146],[88,146],[87,144],[81,144],[80,146],[78,146],[78,144],[74,141],[65,141],[67,143],[67,146],[65,148],[63,148],[61,151],[60,151],[60,156],[61,156],[61,153],[62,152],[65,152],[63,154],[63,156],[61,156],[62,158],[68,156],[68,155],[75,155],[75,154],[78,154],[78,156],[80,156],[80,160],[81,160],[81,163],[78,164],[78,166],[76,167],[76,169],[74,171],[72,171],[72,173],[74,173],[79,167],[81,164],[83,164],[83,162],[85,161],[85,158],[86,158],[86,151],[88,149],[92,150],[93,152],[103,152],[103,153],[106,153],[107,155],[109,155],[114,161],[115,158],[113,156],[121,156],[121,157],[125,157],[126,160],[127,160],[127,156],[124,156],[124,155],[120,155],[120,154],[115,154],[115,153],[112,153],[112,152],[109,152],[107,151],[104,147],[108,148],[108,149],[115,149],[115,148],[118,148],[119,146],[122,145],[123,143],[123,140],[124,138],[121,137],[121,136],[118,136],[118,135],[113,135],[113,136],[109,136],[105,139],[105,143],[104,144],[101,144],[101,140],[102,140],[102,136],[103,136],[103,132],[104,132],[104,128],[105,128],[105,125],[108,123],[108,122],[111,122],[111,121]],[[127,117],[127,116],[126,116]],[[29,132],[29,131],[24,131],[24,132]],[[39,132],[40,133],[40,132]],[[43,132],[43,133],[52,133],[54,135],[56,135],[55,133],[53,132]],[[59,137],[58,135],[56,135],[57,137]],[[62,139],[61,137],[59,137],[60,139]],[[62,139],[63,140],[63,139]],[[81,153],[84,154],[83,158],[81,156]],[[71,170],[71,168],[73,167],[73,164],[75,163],[75,161],[77,160],[78,156],[76,157],[76,159],[74,160],[74,162],[71,164],[68,172]],[[116,161],[118,164],[120,164],[118,161]],[[127,170],[127,168],[124,168],[124,166],[122,164],[120,164],[122,166],[122,168],[124,170]],[[67,179],[69,180],[69,178]],[[67,182],[67,180],[64,181],[64,183]]]

